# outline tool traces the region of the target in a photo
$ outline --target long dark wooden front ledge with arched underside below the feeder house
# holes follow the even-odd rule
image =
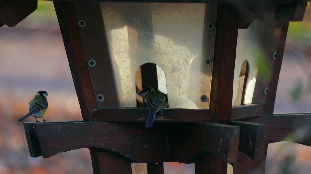
[[[154,123],[152,128],[145,128],[144,122],[101,121],[24,123],[24,127],[32,157],[42,154],[49,158],[74,149],[101,148],[133,163],[195,163],[196,155],[202,152],[234,163],[240,131],[237,126],[224,124],[177,122]]]

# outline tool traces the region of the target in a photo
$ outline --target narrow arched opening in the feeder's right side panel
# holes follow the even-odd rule
[[[248,74],[249,74],[249,64],[247,60],[244,60],[239,75],[238,91],[235,99],[235,106],[244,104]]]

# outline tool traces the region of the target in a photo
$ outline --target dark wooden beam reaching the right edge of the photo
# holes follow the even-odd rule
[[[239,121],[267,124],[266,144],[292,141],[311,146],[310,113],[264,115]]]

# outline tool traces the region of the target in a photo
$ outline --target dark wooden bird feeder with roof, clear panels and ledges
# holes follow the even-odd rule
[[[264,173],[267,145],[310,114],[273,114],[292,0],[54,1],[83,121],[24,123],[31,157],[89,148],[95,174]],[[36,1],[1,1],[13,27]],[[136,95],[165,72],[169,108],[145,128]],[[264,68],[262,68],[264,67]],[[309,127],[308,127],[309,128]],[[304,137],[295,142],[311,145]],[[228,165],[230,164],[230,165]]]

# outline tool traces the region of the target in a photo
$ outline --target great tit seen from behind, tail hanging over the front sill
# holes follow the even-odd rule
[[[148,119],[145,124],[146,128],[153,126],[153,120],[155,119],[156,112],[161,111],[162,115],[164,101],[164,95],[156,87],[152,87],[148,90],[148,93],[145,97],[147,109],[149,110]]]

